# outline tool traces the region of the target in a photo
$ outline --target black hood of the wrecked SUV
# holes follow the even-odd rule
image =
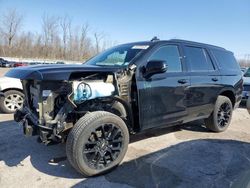
[[[90,65],[35,65],[13,68],[5,74],[7,77],[21,80],[69,80],[72,73],[118,71],[117,67],[99,67]]]

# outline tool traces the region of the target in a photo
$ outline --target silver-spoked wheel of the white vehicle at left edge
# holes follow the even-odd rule
[[[5,97],[0,98],[0,111],[10,114],[21,108],[24,101],[24,95],[17,90],[8,90],[4,92]]]

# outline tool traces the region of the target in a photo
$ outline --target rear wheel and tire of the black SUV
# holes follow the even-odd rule
[[[205,119],[205,126],[214,132],[223,132],[230,125],[233,114],[233,105],[228,97],[219,95],[214,111]]]

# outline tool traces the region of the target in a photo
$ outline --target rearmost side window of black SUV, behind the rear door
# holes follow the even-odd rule
[[[237,63],[233,53],[222,50],[211,50],[219,67],[223,70],[239,70],[240,66]]]

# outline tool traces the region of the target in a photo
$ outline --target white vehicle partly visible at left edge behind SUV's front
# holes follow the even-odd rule
[[[23,87],[19,79],[0,78],[0,111],[13,113],[23,105]]]

